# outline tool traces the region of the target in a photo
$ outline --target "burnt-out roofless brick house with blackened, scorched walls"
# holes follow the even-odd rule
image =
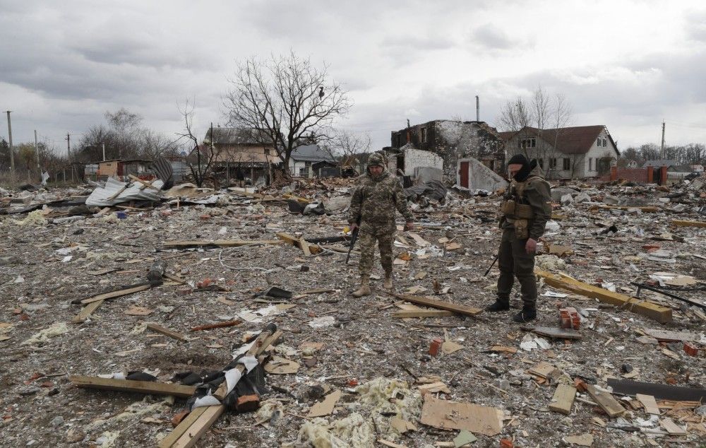
[[[411,143],[414,148],[439,155],[443,160],[443,176],[452,182],[456,180],[460,158],[476,158],[495,172],[504,169],[505,143],[486,122],[434,120],[393,131],[391,143],[393,148]]]

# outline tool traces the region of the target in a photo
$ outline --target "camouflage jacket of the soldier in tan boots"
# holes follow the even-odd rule
[[[361,222],[394,223],[395,209],[402,213],[408,223],[414,220],[414,215],[407,207],[400,179],[387,170],[377,177],[371,176],[369,172],[358,177],[351,198],[349,223],[355,223],[358,216],[361,216]]]

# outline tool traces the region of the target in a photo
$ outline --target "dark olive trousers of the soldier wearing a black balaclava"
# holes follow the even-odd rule
[[[520,281],[523,307],[534,310],[537,307],[537,279],[534,277],[534,254],[527,254],[526,243],[526,239],[515,238],[515,229],[503,230],[498,249],[498,301],[510,301],[510,292],[517,277]]]

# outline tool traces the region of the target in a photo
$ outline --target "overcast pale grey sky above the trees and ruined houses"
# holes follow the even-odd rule
[[[99,6],[100,5],[100,6]],[[706,143],[703,1],[0,0],[0,110],[13,141],[66,150],[104,112],[125,107],[174,136],[196,100],[198,134],[225,124],[238,59],[293,49],[354,100],[340,126],[369,133],[433,119],[496,125],[505,102],[539,84],[605,124],[621,149]],[[7,138],[0,120],[0,136]]]

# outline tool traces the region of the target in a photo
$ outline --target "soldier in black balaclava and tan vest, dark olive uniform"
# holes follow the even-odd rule
[[[537,160],[530,163],[522,154],[513,155],[508,161],[508,170],[513,180],[501,206],[503,236],[498,248],[498,297],[486,310],[510,310],[510,292],[517,277],[522,311],[513,320],[528,322],[537,317],[534,252],[537,240],[544,234],[544,225],[551,218],[551,194],[549,184],[541,177]]]

